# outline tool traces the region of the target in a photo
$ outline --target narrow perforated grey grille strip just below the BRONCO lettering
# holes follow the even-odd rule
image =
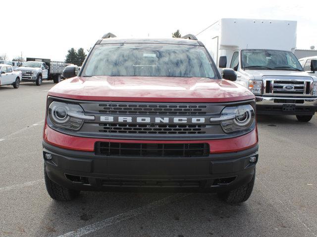
[[[205,134],[208,125],[100,123],[99,132],[127,134]]]

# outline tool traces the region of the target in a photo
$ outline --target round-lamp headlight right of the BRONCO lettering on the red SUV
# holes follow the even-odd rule
[[[211,122],[220,122],[225,133],[239,132],[248,129],[255,120],[251,105],[225,107],[220,118],[211,118]]]

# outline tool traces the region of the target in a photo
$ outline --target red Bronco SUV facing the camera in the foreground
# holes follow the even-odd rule
[[[255,96],[194,36],[98,40],[47,98],[49,195],[116,189],[247,200],[258,161]]]

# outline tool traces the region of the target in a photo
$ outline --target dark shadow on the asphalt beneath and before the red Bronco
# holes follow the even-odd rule
[[[156,206],[155,201],[173,195],[176,194],[83,192],[74,201],[51,200],[39,225],[38,236],[59,236],[94,223],[99,225],[101,221],[107,223],[102,233],[97,230],[88,236],[243,236],[248,230],[254,232],[254,225],[263,230],[267,228],[267,223],[260,221],[255,197],[230,205],[215,194],[192,193]],[[154,208],[125,218],[125,213],[149,204]],[[118,215],[119,221],[111,222],[111,217]],[[91,228],[95,227],[87,230]]]

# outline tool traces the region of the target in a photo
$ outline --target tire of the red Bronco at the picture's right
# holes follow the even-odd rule
[[[248,200],[253,190],[255,177],[256,173],[254,173],[253,178],[249,183],[229,192],[218,193],[218,197],[231,204],[237,204]]]

